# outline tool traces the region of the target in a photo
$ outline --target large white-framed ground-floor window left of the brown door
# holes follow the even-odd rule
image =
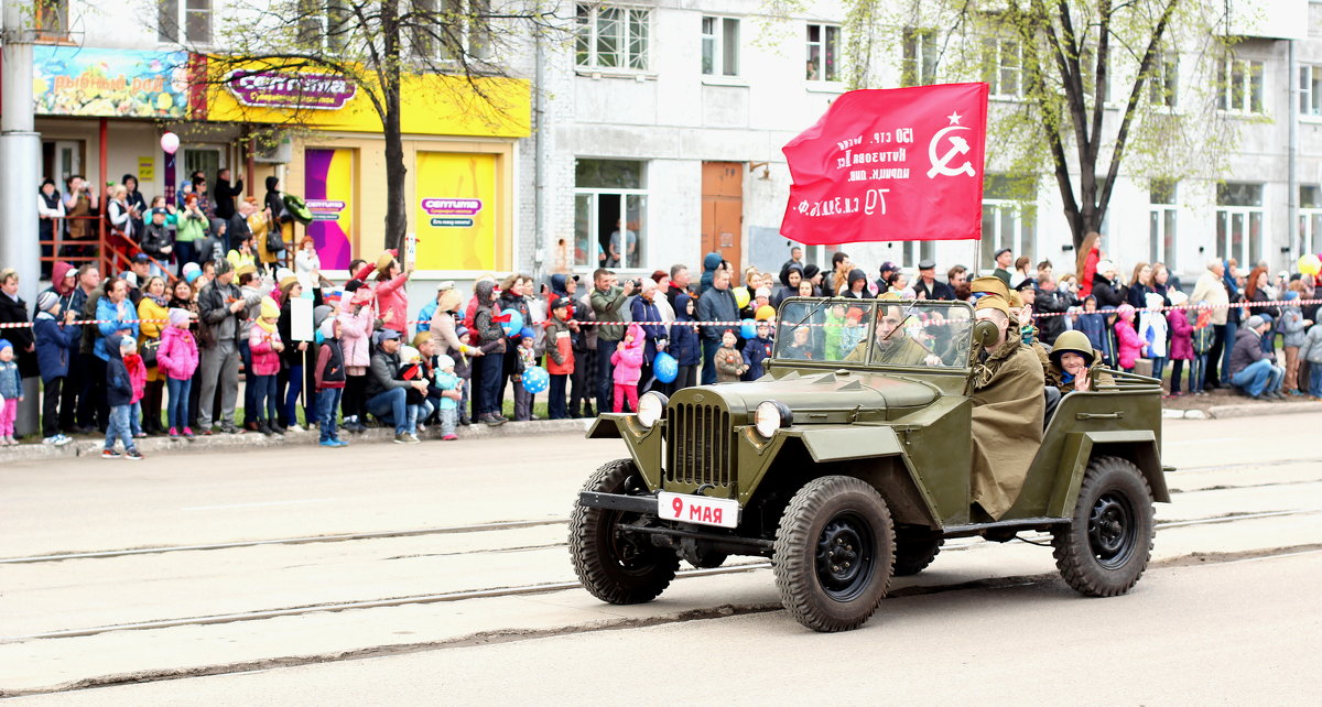
[[[576,160],[574,266],[641,268],[646,263],[644,163]]]

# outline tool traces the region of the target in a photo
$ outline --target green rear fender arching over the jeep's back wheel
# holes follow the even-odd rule
[[[1166,474],[1161,466],[1161,449],[1157,435],[1150,429],[1069,432],[1060,451],[1056,485],[1047,506],[1050,515],[1068,518],[1073,514],[1088,461],[1095,456],[1108,455],[1132,461],[1147,478],[1153,500],[1170,503],[1170,490],[1166,488]]]

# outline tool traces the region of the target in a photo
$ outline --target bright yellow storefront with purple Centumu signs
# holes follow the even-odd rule
[[[235,77],[235,74],[239,74]],[[381,119],[365,87],[307,71],[231,73],[206,95],[213,124],[284,131],[272,152],[282,188],[307,200],[323,267],[345,270],[386,243]],[[237,78],[237,81],[234,81]],[[420,279],[509,271],[514,254],[516,140],[530,133],[526,81],[406,77],[402,132],[408,227]],[[258,182],[264,174],[258,174]]]

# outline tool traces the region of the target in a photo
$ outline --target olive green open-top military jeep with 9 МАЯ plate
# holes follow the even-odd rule
[[[891,577],[921,571],[947,538],[1042,531],[1069,587],[1128,592],[1151,555],[1153,501],[1170,502],[1158,381],[1107,371],[1064,395],[993,519],[970,501],[970,394],[997,338],[966,303],[787,300],[758,381],[648,392],[636,414],[595,420],[588,437],[623,439],[629,456],[579,493],[579,579],[636,604],[680,559],[771,558],[785,609],[834,632],[867,621]]]

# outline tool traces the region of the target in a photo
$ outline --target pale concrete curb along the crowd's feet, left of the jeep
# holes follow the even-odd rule
[[[588,426],[592,424],[590,419],[578,420],[530,420],[530,422],[509,422],[498,427],[488,427],[485,424],[472,424],[468,427],[456,428],[455,433],[460,440],[480,440],[480,439],[500,439],[500,437],[520,437],[520,436],[535,436],[535,435],[559,435],[559,433],[576,433],[583,435],[587,432]],[[352,444],[390,444],[394,441],[394,432],[390,428],[369,428],[361,435],[353,435],[345,431],[340,431],[342,439]],[[440,426],[431,426],[426,432],[418,435],[419,439],[424,441],[440,441]],[[190,453],[190,452],[208,452],[213,449],[230,449],[230,448],[275,448],[275,447],[290,447],[290,445],[305,445],[313,447],[317,444],[320,435],[316,431],[303,431],[303,432],[286,432],[283,437],[267,437],[258,432],[245,432],[242,435],[223,435],[215,433],[209,437],[198,435],[193,441],[178,440],[173,441],[169,437],[144,437],[137,440],[137,448],[143,455],[152,453]],[[45,444],[20,444],[17,447],[7,447],[0,449],[0,464],[8,461],[28,461],[28,460],[71,460],[75,457],[97,459],[100,455],[100,449],[104,447],[102,441],[78,439],[63,447],[49,447]]]

